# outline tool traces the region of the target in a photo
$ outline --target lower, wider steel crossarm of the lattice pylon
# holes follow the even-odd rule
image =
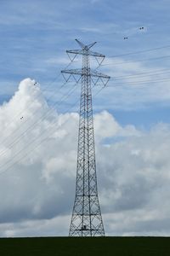
[[[88,75],[90,77],[98,77],[101,79],[110,79],[111,77],[108,75],[105,75],[104,73],[99,73],[95,70],[90,69],[90,72],[87,73],[86,69],[83,68],[77,68],[77,69],[65,69],[62,70],[61,73],[68,73],[68,74],[73,74],[73,75]]]

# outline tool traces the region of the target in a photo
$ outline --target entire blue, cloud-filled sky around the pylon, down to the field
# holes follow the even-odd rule
[[[75,38],[97,42],[105,60],[91,67],[111,76],[93,86],[105,233],[170,236],[169,11],[167,0],[0,0],[0,236],[68,236],[81,84],[60,71],[82,67],[65,53]]]

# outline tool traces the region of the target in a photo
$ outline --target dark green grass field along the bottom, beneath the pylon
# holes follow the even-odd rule
[[[170,256],[168,237],[0,238],[0,256]]]

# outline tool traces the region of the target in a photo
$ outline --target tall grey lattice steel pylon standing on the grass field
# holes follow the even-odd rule
[[[69,236],[105,236],[97,189],[91,84],[97,84],[100,80],[105,86],[110,77],[90,69],[90,55],[96,58],[99,65],[105,58],[105,55],[90,50],[96,42],[84,45],[77,39],[76,41],[82,49],[66,50],[66,53],[70,58],[70,54],[74,54],[71,60],[75,59],[76,55],[82,55],[82,69],[61,71],[65,79],[66,74],[68,79],[73,76],[77,80],[76,75],[79,76],[79,79],[82,78],[76,197]],[[68,81],[68,79],[66,80]]]

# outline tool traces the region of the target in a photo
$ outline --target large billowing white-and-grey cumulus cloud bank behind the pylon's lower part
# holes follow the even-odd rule
[[[169,235],[170,125],[139,131],[103,111],[94,127],[106,234]],[[3,103],[0,236],[67,236],[77,129],[78,114],[50,108],[34,80],[23,80]]]

